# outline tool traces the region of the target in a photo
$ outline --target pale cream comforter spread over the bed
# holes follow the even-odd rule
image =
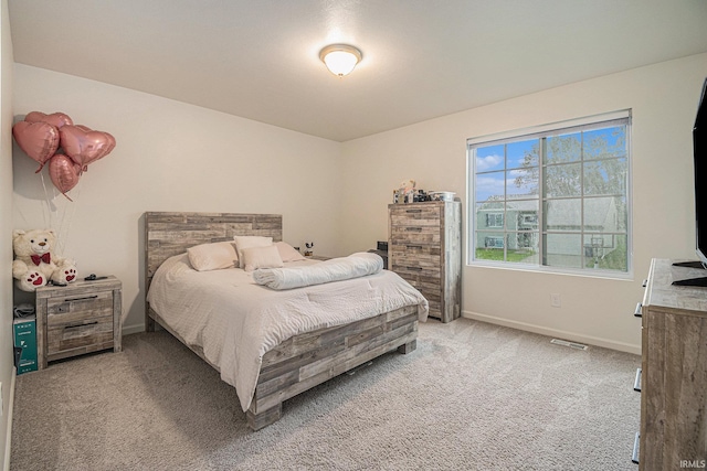
[[[197,271],[187,254],[160,266],[147,300],[188,344],[202,347],[221,378],[235,386],[244,411],[251,406],[263,355],[291,336],[404,306],[416,306],[420,321],[428,317],[428,301],[392,271],[273,291],[240,268]]]

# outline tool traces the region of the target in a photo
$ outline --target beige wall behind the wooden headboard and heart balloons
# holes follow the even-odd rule
[[[146,211],[278,213],[284,239],[338,254],[340,144],[209,109],[17,64],[14,114],[67,114],[110,132],[114,151],[70,192],[15,146],[15,228],[53,226],[82,276],[123,281],[125,332],[143,329]],[[49,195],[49,199],[48,199]],[[50,204],[48,204],[48,201]]]

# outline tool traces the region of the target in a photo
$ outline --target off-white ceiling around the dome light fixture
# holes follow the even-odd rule
[[[705,0],[9,0],[9,8],[18,63],[337,141],[707,52]],[[331,43],[363,53],[347,77],[319,61]]]

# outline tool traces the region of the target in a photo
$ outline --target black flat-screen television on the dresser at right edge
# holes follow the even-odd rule
[[[707,79],[697,106],[693,127],[693,158],[695,163],[695,240],[697,261],[675,264],[683,267],[707,269]],[[707,277],[673,281],[678,286],[707,287]]]

